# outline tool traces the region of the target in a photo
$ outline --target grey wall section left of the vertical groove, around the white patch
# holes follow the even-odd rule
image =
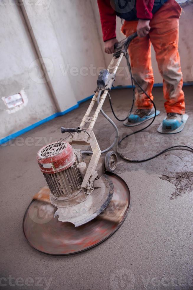
[[[0,139],[55,112],[55,105],[45,83],[34,81],[37,55],[20,9],[1,6],[0,33]],[[28,69],[33,63],[31,77]],[[44,78],[42,78],[44,82]],[[22,91],[24,104],[8,109],[1,97]]]

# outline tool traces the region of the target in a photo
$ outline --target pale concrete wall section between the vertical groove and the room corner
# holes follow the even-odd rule
[[[91,3],[51,1],[48,9],[24,7],[41,56],[53,63],[50,82],[64,111],[93,94],[96,74],[91,75],[89,67],[104,62]]]

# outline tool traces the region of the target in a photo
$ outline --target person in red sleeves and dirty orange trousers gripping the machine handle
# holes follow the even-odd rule
[[[163,127],[176,129],[183,123],[185,113],[183,78],[178,52],[179,17],[181,7],[174,0],[97,0],[102,25],[104,51],[114,52],[116,16],[124,19],[121,31],[129,36],[137,31],[129,45],[129,55],[134,79],[153,100],[154,83],[151,64],[151,43],[163,77],[163,95],[166,119]],[[135,90],[134,114],[128,122],[141,123],[155,116],[153,104],[138,86]]]

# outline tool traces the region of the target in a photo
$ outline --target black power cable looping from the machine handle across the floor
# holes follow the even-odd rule
[[[157,156],[159,156],[159,155],[161,155],[161,154],[163,154],[164,152],[166,152],[166,151],[168,151],[168,150],[170,150],[170,149],[174,149],[174,148],[176,148],[176,147],[183,147],[183,149],[184,148],[186,148],[186,149],[190,149],[190,150],[192,150],[193,151],[193,148],[192,147],[190,147],[190,146],[186,146],[186,145],[176,145],[176,146],[171,146],[171,147],[168,147],[167,149],[165,149],[165,150],[163,150],[163,151],[161,151],[161,152],[159,152],[158,154],[156,154],[156,155],[154,155],[154,156],[152,156],[152,157],[150,157],[150,158],[147,158],[147,159],[142,159],[142,160],[133,160],[133,159],[130,159],[130,158],[128,158],[128,157],[126,157],[126,156],[124,156],[120,151],[119,151],[119,145],[120,145],[120,143],[125,139],[125,138],[127,138],[127,137],[129,137],[129,136],[131,136],[131,135],[134,135],[134,134],[136,134],[136,133],[139,133],[139,132],[141,132],[141,131],[143,131],[143,130],[145,130],[145,129],[147,129],[153,122],[154,122],[154,120],[155,120],[155,118],[156,118],[156,105],[154,104],[154,102],[153,102],[153,100],[150,98],[150,96],[143,90],[143,88],[140,86],[140,84],[133,78],[133,75],[132,75],[132,71],[131,71],[131,65],[130,65],[130,62],[129,62],[129,55],[128,55],[128,53],[125,55],[125,58],[126,58],[126,60],[127,60],[127,66],[128,66],[128,68],[129,68],[129,72],[130,72],[130,76],[131,76],[131,84],[132,84],[132,88],[133,88],[133,96],[135,97],[135,90],[134,90],[134,85],[133,85],[133,82],[135,81],[135,83],[136,83],[136,85],[143,91],[143,93],[148,97],[148,99],[150,99],[150,101],[152,102],[152,104],[153,104],[153,107],[154,107],[154,109],[155,109],[155,116],[153,117],[153,120],[151,121],[151,123],[150,124],[148,124],[146,127],[144,127],[144,128],[142,128],[142,129],[140,129],[140,130],[138,130],[138,131],[135,131],[135,132],[133,132],[133,133],[131,133],[131,134],[128,134],[128,135],[126,135],[125,137],[123,137],[119,142],[118,142],[118,144],[117,144],[117,153],[120,155],[120,157],[121,158],[123,158],[124,160],[127,160],[127,161],[129,161],[129,162],[135,162],[135,163],[139,163],[139,162],[145,162],[145,161],[148,161],[148,160],[151,160],[151,159],[153,159],[153,158],[155,158],[155,157],[157,157]],[[133,97],[133,104],[134,104],[134,97]],[[125,121],[128,117],[126,117],[124,120],[120,120],[117,116],[116,116],[116,114],[115,114],[115,112],[114,112],[114,110],[113,110],[113,107],[112,107],[112,102],[111,102],[111,98],[110,98],[110,95],[109,95],[109,103],[110,103],[110,107],[111,107],[111,110],[112,110],[112,113],[113,113],[113,115],[115,116],[115,118],[118,120],[118,121]],[[131,114],[131,112],[132,112],[132,110],[133,110],[133,104],[132,104],[132,106],[131,106],[131,109],[130,109],[130,114]],[[130,115],[129,114],[129,115]],[[183,149],[181,149],[181,150],[183,150]]]

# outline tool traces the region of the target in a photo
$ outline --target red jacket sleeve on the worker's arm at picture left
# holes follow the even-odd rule
[[[110,0],[97,0],[101,18],[103,40],[116,38],[116,12],[111,7]]]

